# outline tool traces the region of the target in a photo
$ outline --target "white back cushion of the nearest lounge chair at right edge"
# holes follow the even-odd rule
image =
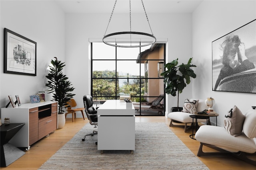
[[[249,138],[256,137],[256,109],[250,109],[245,113],[243,131]]]

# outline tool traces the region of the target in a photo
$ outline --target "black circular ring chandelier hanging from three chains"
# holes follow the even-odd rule
[[[117,0],[116,0],[117,1]],[[112,18],[112,15],[113,15],[113,12],[114,12],[114,9],[115,9],[115,6],[116,6],[116,1],[115,1],[115,4],[114,4],[114,7],[113,7],[113,10],[112,10],[112,13],[111,13],[111,16],[110,16],[110,19],[108,21],[108,25],[111,21],[111,18]],[[146,19],[148,21],[148,25],[150,27],[150,30],[151,30],[151,33],[152,34],[149,34],[149,33],[144,33],[144,32],[136,32],[136,31],[132,31],[132,19],[131,19],[131,0],[129,0],[130,2],[130,31],[123,31],[123,32],[115,32],[115,33],[110,33],[108,35],[106,35],[106,32],[107,32],[107,29],[108,29],[108,26],[106,28],[106,31],[105,31],[105,35],[102,39],[103,43],[107,44],[107,45],[111,45],[111,46],[114,46],[114,47],[144,47],[144,46],[147,46],[147,45],[151,45],[151,44],[154,44],[156,42],[156,37],[153,35],[152,33],[152,29],[150,27],[150,23],[148,21],[148,16],[146,14],[146,10],[145,10],[145,7],[144,7],[144,4],[143,4],[143,0],[141,0],[142,2],[142,6],[144,8],[144,12],[145,12],[145,15],[146,15]],[[115,37],[115,36],[118,36],[118,35],[130,35],[130,45],[121,45],[121,44],[117,44],[117,43],[110,43],[110,42],[107,42],[106,41],[106,38],[111,38],[111,37]],[[146,42],[144,44],[141,44],[140,45],[132,45],[132,37],[133,36],[136,36],[136,35],[142,35],[142,36],[146,36],[146,37],[150,37],[152,39],[152,41],[149,41],[149,42]]]

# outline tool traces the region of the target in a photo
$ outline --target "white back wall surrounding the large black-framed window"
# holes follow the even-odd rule
[[[76,88],[74,96],[78,106],[83,106],[82,96],[90,94],[90,55],[88,39],[102,39],[110,14],[66,14],[66,74]],[[114,19],[113,19],[114,18]],[[124,14],[114,14],[108,33],[130,31],[129,20],[124,22]],[[170,62],[179,58],[180,63],[187,63],[192,57],[192,14],[148,14],[150,26],[158,39],[168,39],[167,56]],[[119,20],[119,22],[116,22]],[[148,31],[144,14],[134,14],[132,31]],[[136,25],[139,28],[136,29]],[[150,33],[150,32],[148,32]],[[192,84],[180,95],[180,105],[186,98],[192,97]],[[177,106],[177,97],[168,95],[167,113],[170,107]]]

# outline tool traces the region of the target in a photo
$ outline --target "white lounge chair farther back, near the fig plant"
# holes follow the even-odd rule
[[[190,99],[190,100],[198,100],[198,99]],[[204,103],[204,100],[199,99],[198,106],[196,107],[196,111],[200,112],[205,109],[208,109],[208,107]],[[193,115],[193,114],[181,112],[181,111],[169,113],[168,117],[171,119],[170,127],[184,127],[184,132],[186,132],[188,129],[190,129],[190,127],[192,127],[192,122],[193,122],[193,118],[191,118],[189,115]],[[173,124],[173,121],[185,123],[185,125]],[[198,119],[197,121],[202,123],[202,122],[206,122],[207,119]],[[191,125],[188,126],[188,123],[191,123]]]

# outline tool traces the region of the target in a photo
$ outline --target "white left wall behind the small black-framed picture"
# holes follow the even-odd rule
[[[0,1],[0,107],[8,95],[20,96],[21,103],[30,95],[46,90],[46,68],[53,57],[65,61],[65,14],[53,1]],[[4,73],[4,28],[37,43],[37,75]]]

